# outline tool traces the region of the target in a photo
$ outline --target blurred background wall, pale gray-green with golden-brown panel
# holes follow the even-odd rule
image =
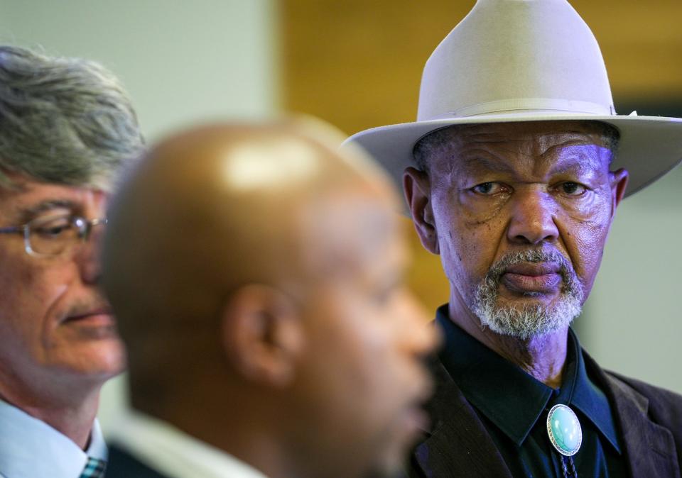
[[[150,140],[195,121],[282,109],[346,133],[416,116],[421,69],[473,0],[0,0],[0,40],[99,60],[123,80]],[[599,41],[620,113],[682,117],[682,2],[573,0]],[[646,158],[642,158],[646,160]],[[605,367],[682,392],[682,169],[624,201],[575,324]],[[448,300],[411,224],[411,284]],[[121,402],[106,387],[106,426]]]

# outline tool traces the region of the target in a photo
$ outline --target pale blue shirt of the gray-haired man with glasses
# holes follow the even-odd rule
[[[0,400],[1,478],[79,478],[89,456],[107,459],[97,420],[84,452],[44,421]]]

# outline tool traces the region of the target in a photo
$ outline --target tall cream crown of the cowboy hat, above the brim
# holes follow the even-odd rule
[[[424,67],[418,121],[615,114],[595,36],[566,0],[478,0]]]

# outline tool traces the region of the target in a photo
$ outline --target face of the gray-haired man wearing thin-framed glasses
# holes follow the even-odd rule
[[[61,213],[104,217],[102,191],[13,179],[18,189],[0,192],[0,226]],[[101,234],[94,226],[87,243],[56,257],[28,255],[21,235],[0,235],[0,396],[37,406],[36,394],[56,401],[60,389],[121,371],[122,345],[97,287]]]

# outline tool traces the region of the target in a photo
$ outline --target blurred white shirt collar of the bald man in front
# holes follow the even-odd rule
[[[117,446],[172,478],[267,478],[251,465],[191,437],[170,424],[135,411],[117,419]]]

